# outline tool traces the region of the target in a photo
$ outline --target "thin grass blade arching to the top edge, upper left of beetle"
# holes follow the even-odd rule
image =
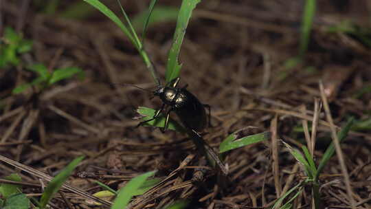
[[[84,0],[84,1],[89,3],[94,8],[96,8],[97,10],[102,12],[104,15],[106,15],[106,17],[111,19],[111,21],[113,21],[113,23],[115,23],[122,30],[122,32],[124,32],[124,34],[128,36],[128,39],[131,41],[131,43],[133,43],[133,45],[137,47],[137,43],[135,42],[135,39],[133,38],[131,32],[129,32],[128,28],[126,28],[126,26],[124,25],[124,23],[122,23],[120,18],[118,18],[115,13],[113,13],[109,8],[107,8],[106,5],[104,5],[103,3],[100,3],[100,1],[98,0]],[[137,48],[137,50],[139,50],[139,48]]]

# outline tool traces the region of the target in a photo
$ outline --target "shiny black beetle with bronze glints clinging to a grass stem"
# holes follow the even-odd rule
[[[175,111],[181,120],[182,124],[195,132],[202,131],[207,126],[207,119],[210,123],[210,105],[202,104],[196,96],[194,96],[190,91],[188,91],[187,85],[185,87],[177,87],[180,81],[180,77],[174,78],[165,87],[159,85],[155,91],[153,91],[154,96],[158,96],[162,100],[162,106],[160,109],[155,111],[153,118],[149,120],[144,120],[137,124],[141,126],[146,122],[150,122],[159,118],[159,113],[164,111],[166,105],[169,107],[166,112],[165,125],[161,128],[162,132],[168,129],[168,122],[170,118],[170,112]],[[209,111],[209,117],[207,118],[205,107]]]

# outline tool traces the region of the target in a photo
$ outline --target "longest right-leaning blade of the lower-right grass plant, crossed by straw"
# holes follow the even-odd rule
[[[337,133],[337,137],[339,138],[339,142],[341,143],[346,136],[348,135],[348,132],[350,131],[350,128],[352,127],[352,124],[354,122],[354,118],[350,118],[348,122],[346,122],[345,126]],[[321,162],[319,162],[318,169],[317,169],[317,175],[315,175],[315,180],[318,179],[319,174],[321,174],[322,170],[324,169],[324,166],[326,166],[328,160],[333,157],[335,153],[335,147],[334,144],[331,143],[330,146],[326,149],[324,156],[322,156]]]

